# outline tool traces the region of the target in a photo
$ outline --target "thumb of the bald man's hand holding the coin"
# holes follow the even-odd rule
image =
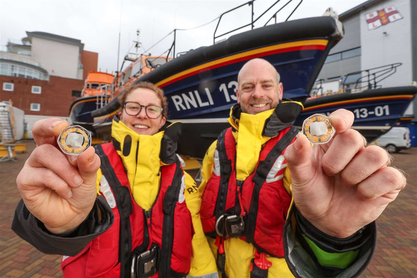
[[[311,163],[311,153],[313,147],[303,133],[298,133],[297,138],[289,145],[284,153],[291,173],[292,185],[304,185],[311,180],[313,164]]]

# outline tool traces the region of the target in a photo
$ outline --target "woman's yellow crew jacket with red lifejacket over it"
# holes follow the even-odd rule
[[[196,184],[175,154],[180,132],[181,123],[173,123],[155,135],[139,135],[113,119],[113,142],[95,149],[101,160],[97,189],[114,224],[75,257],[64,256],[64,277],[216,274]]]

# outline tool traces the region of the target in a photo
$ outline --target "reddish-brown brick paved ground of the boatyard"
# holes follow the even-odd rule
[[[16,176],[35,147],[25,143],[28,153],[18,154],[18,162],[0,163],[0,277],[62,277],[61,256],[40,253],[10,230],[20,199]],[[393,165],[407,173],[409,183],[378,219],[377,250],[364,278],[417,277],[417,148],[394,154]]]

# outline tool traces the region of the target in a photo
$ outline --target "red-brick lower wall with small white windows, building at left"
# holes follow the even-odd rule
[[[3,91],[3,82],[13,83],[14,90]],[[40,86],[41,93],[32,93],[32,85]],[[75,99],[72,90],[80,91],[83,80],[51,76],[49,81],[0,75],[0,101],[13,101],[13,106],[25,111],[25,115],[68,117],[70,104]],[[40,111],[31,111],[30,103],[39,103]]]

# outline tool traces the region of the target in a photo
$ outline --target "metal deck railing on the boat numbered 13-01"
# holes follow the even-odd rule
[[[320,98],[327,95],[341,93],[359,93],[363,90],[382,88],[380,82],[397,72],[397,67],[402,63],[392,63],[367,70],[359,70],[345,75],[331,78],[321,78],[316,80],[316,88],[311,90],[310,97]],[[359,76],[358,76],[359,75]],[[353,79],[352,77],[358,78]],[[333,90],[335,84],[328,86],[330,83],[337,84],[337,90]]]

